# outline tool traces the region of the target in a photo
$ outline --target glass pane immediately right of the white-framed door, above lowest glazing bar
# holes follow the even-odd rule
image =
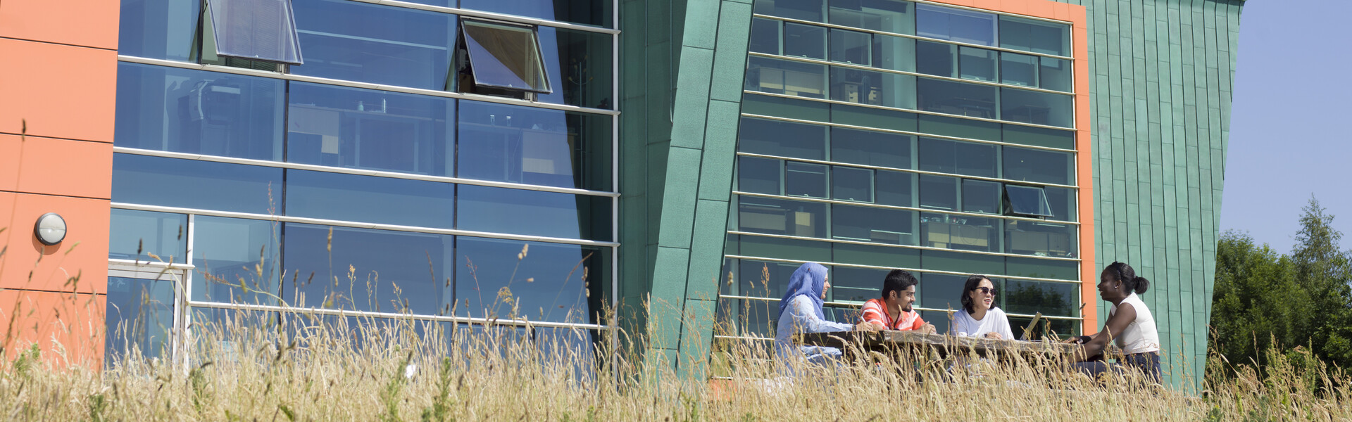
[[[192,300],[277,304],[280,223],[199,215],[192,223]]]

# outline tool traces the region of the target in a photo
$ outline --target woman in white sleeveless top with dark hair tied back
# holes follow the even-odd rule
[[[1151,280],[1137,277],[1136,271],[1125,262],[1113,262],[1099,275],[1099,296],[1111,303],[1103,331],[1094,335],[1079,335],[1067,339],[1079,344],[1080,352],[1075,365],[1080,372],[1096,376],[1106,371],[1121,371],[1119,367],[1103,361],[1087,361],[1103,354],[1109,338],[1125,354],[1118,364],[1144,372],[1156,383],[1160,381],[1160,333],[1155,327],[1155,316],[1137,295],[1145,294]]]

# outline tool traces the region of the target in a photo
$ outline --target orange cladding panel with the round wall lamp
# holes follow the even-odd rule
[[[11,210],[14,212],[11,214]],[[57,245],[38,242],[38,216],[61,214],[66,238]],[[107,294],[108,200],[0,192],[0,288],[49,292]]]

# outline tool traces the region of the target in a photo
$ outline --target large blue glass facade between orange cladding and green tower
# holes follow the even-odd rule
[[[610,329],[615,3],[412,3],[443,9],[293,0],[303,64],[273,64],[216,57],[238,34],[196,1],[122,1],[110,350],[245,304]]]

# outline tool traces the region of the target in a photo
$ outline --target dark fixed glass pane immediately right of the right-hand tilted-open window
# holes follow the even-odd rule
[[[614,110],[611,74],[615,35],[579,30],[538,27],[539,53],[545,57],[545,74],[554,92],[541,93],[541,103]]]

